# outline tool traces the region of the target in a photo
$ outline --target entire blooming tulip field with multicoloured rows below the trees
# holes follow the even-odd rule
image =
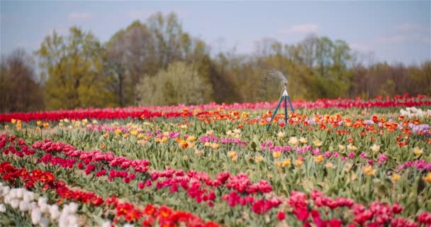
[[[0,114],[0,226],[431,226],[431,97]]]

